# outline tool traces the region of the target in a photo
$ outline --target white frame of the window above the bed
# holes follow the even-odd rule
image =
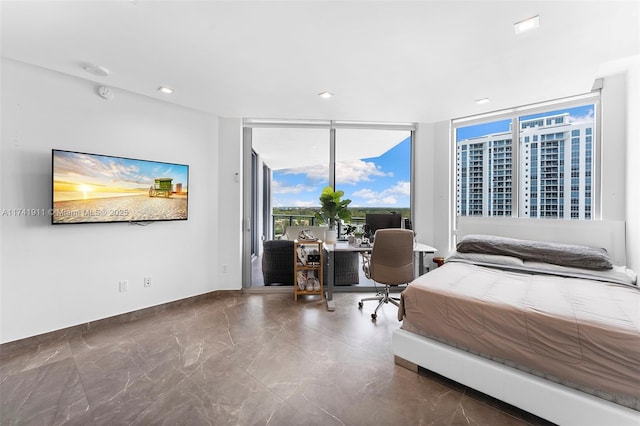
[[[452,146],[452,187],[451,187],[451,212],[452,223],[457,223],[457,130],[459,128],[493,122],[500,120],[511,120],[511,140],[512,140],[512,209],[511,217],[527,218],[532,220],[548,219],[548,220],[577,220],[574,218],[530,218],[524,215],[520,215],[520,205],[523,201],[523,188],[520,187],[520,160],[522,153],[520,152],[520,117],[528,116],[539,113],[550,113],[564,108],[573,108],[578,106],[584,106],[592,104],[594,106],[594,130],[592,134],[591,149],[592,149],[592,163],[593,173],[591,176],[591,218],[588,220],[601,220],[602,218],[602,204],[601,204],[601,185],[602,185],[602,165],[601,165],[601,123],[602,123],[602,107],[601,107],[601,92],[599,89],[589,93],[581,95],[571,96],[567,98],[554,99],[550,101],[540,102],[536,104],[523,105],[513,108],[507,108],[503,110],[492,111],[484,114],[477,114],[472,116],[460,117],[451,120],[451,134],[450,141]],[[571,143],[571,135],[569,135],[569,143]],[[466,216],[466,215],[465,215]],[[485,215],[483,217],[492,217]],[[586,219],[585,219],[586,220]],[[454,225],[455,226],[455,225]],[[457,226],[456,226],[457,228]]]

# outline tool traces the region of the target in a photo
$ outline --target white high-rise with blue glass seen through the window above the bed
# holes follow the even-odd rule
[[[519,167],[512,132],[457,143],[457,214],[591,219],[593,121],[569,113],[519,121]],[[512,179],[519,179],[520,202]],[[517,207],[514,207],[517,206]]]

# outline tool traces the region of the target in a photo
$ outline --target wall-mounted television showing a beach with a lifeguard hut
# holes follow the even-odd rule
[[[187,220],[189,166],[53,149],[51,223]]]

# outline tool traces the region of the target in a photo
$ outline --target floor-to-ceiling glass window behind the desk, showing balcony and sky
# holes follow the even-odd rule
[[[261,184],[269,191],[254,191],[258,199],[251,200],[262,212],[253,232],[261,239],[277,239],[289,225],[321,225],[319,197],[326,186],[343,190],[352,200],[355,226],[364,223],[367,212],[400,213],[409,223],[413,129],[398,124],[245,120],[245,138],[256,155],[253,173],[268,170]],[[255,263],[254,286],[260,285],[259,261]]]

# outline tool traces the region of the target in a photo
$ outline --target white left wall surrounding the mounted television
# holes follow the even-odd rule
[[[219,152],[218,117],[119,90],[106,101],[90,81],[8,60],[1,87],[2,211],[50,207],[52,148],[188,164],[190,176],[187,221],[52,226],[49,217],[0,217],[0,342],[240,288],[217,274],[219,241],[229,238],[218,230],[228,219],[218,196],[237,191],[222,156],[239,158]],[[238,263],[233,256],[223,259]],[[123,279],[130,288],[120,293]]]

